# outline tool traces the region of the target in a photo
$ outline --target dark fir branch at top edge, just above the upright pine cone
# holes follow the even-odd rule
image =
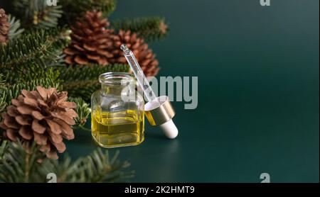
[[[82,17],[86,11],[102,11],[103,16],[107,17],[116,8],[116,0],[64,0],[61,1],[63,17],[61,23],[73,25],[78,17]]]

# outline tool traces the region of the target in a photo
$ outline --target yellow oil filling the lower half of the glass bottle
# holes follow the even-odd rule
[[[139,145],[144,141],[144,112],[92,112],[92,136],[102,147]]]

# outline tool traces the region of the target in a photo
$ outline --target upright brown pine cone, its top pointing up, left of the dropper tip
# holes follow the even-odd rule
[[[68,64],[100,64],[106,65],[112,54],[108,48],[112,45],[112,30],[107,18],[102,19],[102,12],[87,11],[85,17],[78,19],[71,28],[71,44],[64,50],[65,62]]]

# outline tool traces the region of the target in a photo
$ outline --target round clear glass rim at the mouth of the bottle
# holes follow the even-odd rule
[[[128,86],[134,81],[134,75],[127,72],[105,72],[99,76],[99,82],[107,86]]]

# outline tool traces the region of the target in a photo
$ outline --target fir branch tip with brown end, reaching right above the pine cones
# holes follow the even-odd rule
[[[119,30],[131,30],[146,41],[160,40],[166,37],[169,26],[164,18],[125,18],[112,22],[112,27]]]

